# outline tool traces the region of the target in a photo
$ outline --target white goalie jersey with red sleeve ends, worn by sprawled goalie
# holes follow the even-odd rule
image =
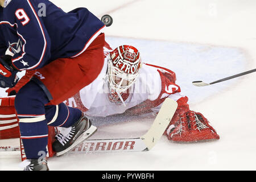
[[[124,103],[111,102],[109,100],[109,82],[106,75],[107,67],[108,57],[105,58],[104,67],[96,80],[65,101],[65,104],[77,107],[84,111],[86,115],[92,117],[106,117],[125,113],[125,111],[132,108],[139,108],[145,101],[148,102],[148,105],[143,106],[143,110],[152,109],[158,112],[163,98],[170,97],[177,101],[182,97],[179,86],[175,84],[174,72],[168,72],[167,69],[143,63],[139,76],[131,87],[129,96],[127,96]],[[141,112],[141,109],[139,112]]]

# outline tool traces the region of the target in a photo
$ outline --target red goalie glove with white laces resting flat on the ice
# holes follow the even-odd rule
[[[175,142],[220,139],[207,118],[201,113],[189,110],[188,104],[178,107],[165,134],[169,140]]]

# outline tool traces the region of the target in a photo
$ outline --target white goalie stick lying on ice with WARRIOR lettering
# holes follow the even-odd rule
[[[68,153],[149,151],[162,137],[175,111],[177,102],[166,98],[150,129],[142,137],[119,139],[88,139]],[[0,146],[0,151],[20,151],[20,147]]]

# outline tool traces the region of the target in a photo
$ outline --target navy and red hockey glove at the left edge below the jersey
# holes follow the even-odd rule
[[[16,76],[18,71],[11,67],[11,56],[0,57],[0,87],[12,88],[16,85],[19,77]]]

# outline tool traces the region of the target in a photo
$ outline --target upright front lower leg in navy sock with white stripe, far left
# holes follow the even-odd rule
[[[47,155],[48,126],[44,110],[47,102],[46,94],[33,81],[24,85],[16,94],[15,109],[19,118],[20,139],[31,164],[25,169],[48,169],[47,163],[40,163],[41,159],[46,160]]]

